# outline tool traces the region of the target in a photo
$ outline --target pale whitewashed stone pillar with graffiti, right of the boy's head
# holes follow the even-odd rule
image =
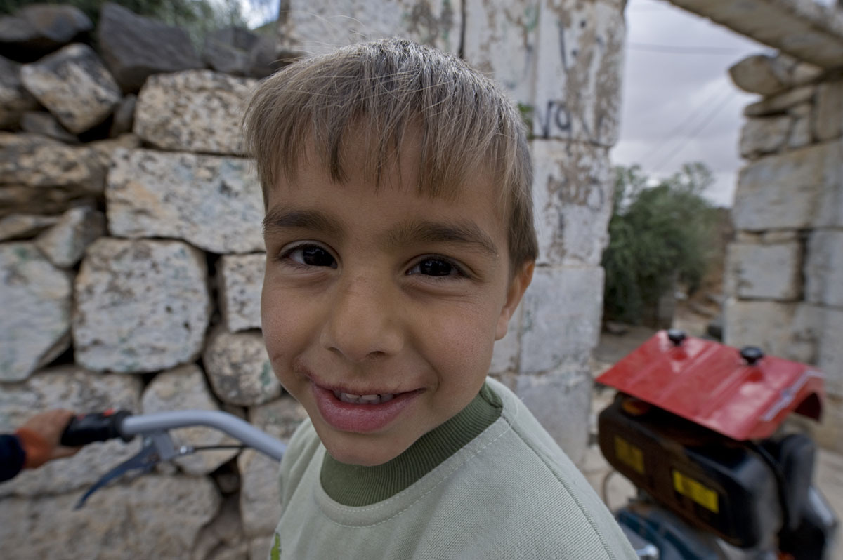
[[[574,461],[587,445],[588,360],[603,310],[609,148],[619,134],[626,29],[621,4],[465,2],[464,57],[507,89],[532,132],[540,256],[492,371]]]

